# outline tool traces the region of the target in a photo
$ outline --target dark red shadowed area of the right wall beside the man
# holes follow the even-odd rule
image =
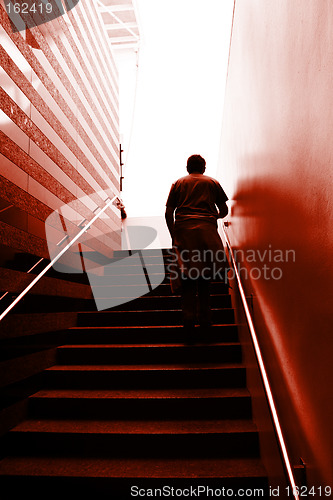
[[[276,158],[244,163],[245,171],[259,174]],[[246,293],[253,294],[254,319],[294,464],[302,458],[309,478],[333,482],[331,207],[327,183],[297,175],[301,171],[298,164],[284,178],[270,169],[243,178],[227,231]],[[273,269],[278,271],[272,274]]]

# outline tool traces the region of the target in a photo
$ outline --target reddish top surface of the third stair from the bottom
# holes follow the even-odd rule
[[[43,389],[30,398],[68,398],[68,399],[200,399],[250,397],[246,388],[208,388],[208,389]]]

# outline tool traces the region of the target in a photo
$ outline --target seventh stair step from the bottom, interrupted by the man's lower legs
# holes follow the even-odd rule
[[[217,323],[234,323],[233,309],[212,309],[212,320]],[[99,311],[78,313],[78,326],[135,326],[135,325],[181,325],[182,311],[152,310],[152,311]]]

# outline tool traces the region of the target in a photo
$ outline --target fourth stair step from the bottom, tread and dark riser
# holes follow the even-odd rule
[[[71,388],[244,387],[245,367],[234,364],[55,365],[44,386]]]

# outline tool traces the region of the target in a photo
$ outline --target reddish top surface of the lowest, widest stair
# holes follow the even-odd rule
[[[265,477],[259,459],[112,459],[96,457],[11,456],[0,475],[107,478]]]

